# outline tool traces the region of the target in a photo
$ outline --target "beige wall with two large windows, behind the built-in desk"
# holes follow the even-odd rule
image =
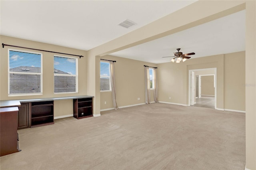
[[[48,51],[56,51],[61,53],[70,53],[75,55],[83,55],[79,59],[78,57],[78,93],[68,93],[68,94],[54,94],[54,68],[53,68],[53,56],[54,53],[39,51],[43,54],[42,59],[42,71],[43,71],[43,95],[32,95],[32,96],[17,96],[17,97],[8,97],[8,48],[10,49],[19,49],[25,51],[35,51],[30,49],[22,49],[17,47],[9,47],[5,46],[4,48],[0,48],[0,100],[15,100],[15,99],[40,99],[40,98],[50,98],[50,97],[69,97],[69,96],[80,96],[87,95],[87,77],[86,77],[86,51],[72,49],[68,47],[62,47],[58,45],[52,45],[41,42],[34,42],[29,40],[23,40],[19,38],[12,38],[8,36],[0,36],[1,44],[10,44],[17,45],[22,47],[29,47],[35,49],[43,49]],[[35,51],[38,52],[38,51]],[[56,53],[56,55],[61,56],[69,56],[62,55]],[[74,57],[74,56],[71,56]],[[56,116],[64,116],[73,114],[73,104],[72,100],[65,101],[56,101],[54,103],[54,117]],[[67,103],[64,107],[62,104]]]

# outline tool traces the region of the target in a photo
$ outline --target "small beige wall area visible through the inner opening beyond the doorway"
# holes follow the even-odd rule
[[[201,76],[201,95],[215,95],[214,75]]]

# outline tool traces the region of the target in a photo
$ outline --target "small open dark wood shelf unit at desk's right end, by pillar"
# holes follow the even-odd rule
[[[92,117],[92,97],[73,99],[74,117],[76,119]]]

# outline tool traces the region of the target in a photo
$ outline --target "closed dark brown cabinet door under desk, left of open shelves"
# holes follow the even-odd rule
[[[28,103],[21,103],[18,113],[18,129],[28,128]]]

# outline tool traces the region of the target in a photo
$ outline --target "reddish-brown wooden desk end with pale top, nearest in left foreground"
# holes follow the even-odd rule
[[[0,108],[0,156],[19,152],[18,107]]]

